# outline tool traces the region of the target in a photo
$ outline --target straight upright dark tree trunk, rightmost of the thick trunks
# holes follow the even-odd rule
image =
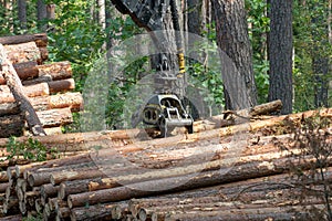
[[[281,99],[282,114],[292,112],[292,0],[270,0],[269,101]]]

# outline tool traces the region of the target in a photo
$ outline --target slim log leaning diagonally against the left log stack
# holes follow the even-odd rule
[[[6,49],[0,44],[0,56],[1,56],[1,71],[2,76],[7,81],[7,84],[10,86],[11,92],[13,93],[15,101],[20,102],[20,108],[22,113],[25,114],[25,119],[28,122],[29,128],[33,135],[45,136],[42,124],[35,114],[28,96],[22,90],[21,81],[13,69],[12,64],[7,57]]]

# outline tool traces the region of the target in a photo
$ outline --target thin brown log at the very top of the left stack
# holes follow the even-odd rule
[[[45,33],[38,33],[0,38],[0,44],[21,44],[27,42],[35,42],[38,46],[46,46],[48,35]]]

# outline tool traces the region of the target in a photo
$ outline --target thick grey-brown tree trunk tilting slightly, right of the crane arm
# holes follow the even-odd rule
[[[227,109],[257,104],[245,0],[212,0]]]

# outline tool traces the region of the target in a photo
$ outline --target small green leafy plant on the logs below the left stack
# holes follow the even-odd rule
[[[53,158],[56,157],[56,150],[54,148],[48,149],[39,140],[31,137],[24,143],[18,141],[15,137],[10,137],[7,144],[7,151],[10,152],[7,159],[23,157],[24,159],[33,161],[44,161],[46,160],[48,154],[53,155]]]

